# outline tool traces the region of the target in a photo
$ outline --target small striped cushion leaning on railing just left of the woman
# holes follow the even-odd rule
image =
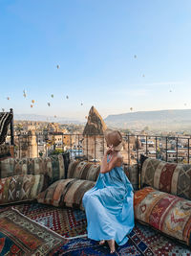
[[[100,165],[86,161],[72,161],[69,165],[68,178],[79,178],[96,181],[100,172]]]

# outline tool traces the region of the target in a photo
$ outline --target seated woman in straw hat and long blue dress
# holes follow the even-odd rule
[[[108,150],[103,156],[96,185],[83,197],[87,217],[88,238],[110,246],[114,253],[118,245],[128,241],[134,227],[133,187],[122,169],[122,136],[117,130],[107,130]]]

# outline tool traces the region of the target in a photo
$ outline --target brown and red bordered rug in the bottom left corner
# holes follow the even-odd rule
[[[0,255],[52,255],[65,240],[16,209],[0,209]]]

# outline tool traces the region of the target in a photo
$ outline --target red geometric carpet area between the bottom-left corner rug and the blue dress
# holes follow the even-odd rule
[[[86,216],[78,209],[53,207],[34,202],[13,207],[32,221],[45,225],[64,238],[86,234]]]

